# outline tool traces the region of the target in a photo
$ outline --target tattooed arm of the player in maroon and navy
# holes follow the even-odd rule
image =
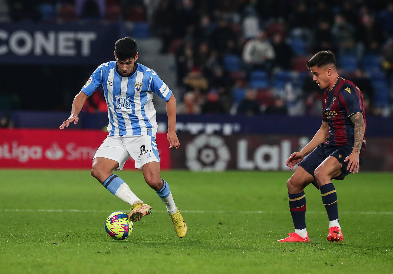
[[[365,124],[363,120],[363,114],[362,113],[355,113],[350,117],[352,123],[355,125],[354,131],[354,144],[353,144],[353,150],[351,155],[347,156],[345,158],[344,162],[348,161],[348,167],[350,172],[355,173],[359,172],[359,154],[360,154],[360,149],[363,144],[363,137],[364,137],[364,131],[365,131]]]

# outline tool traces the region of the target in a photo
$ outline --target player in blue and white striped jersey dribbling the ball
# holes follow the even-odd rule
[[[91,174],[119,199],[131,205],[130,221],[140,221],[151,214],[152,207],[145,204],[117,175],[131,156],[135,167],[142,169],[146,183],[154,189],[165,203],[173,221],[176,234],[184,237],[187,225],[174,203],[169,184],[160,175],[160,157],[156,144],[156,110],[153,93],[166,102],[168,116],[169,148],[178,149],[180,142],[175,132],[176,99],[169,87],[154,70],[136,63],[136,41],[130,37],[115,43],[116,61],[101,64],[90,76],[72,103],[71,115],[59,129],[76,124],[86,99],[102,87],[108,105],[107,138],[93,158]]]

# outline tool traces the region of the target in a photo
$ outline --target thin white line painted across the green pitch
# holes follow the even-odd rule
[[[0,211],[7,212],[109,212],[112,210],[79,210],[79,209],[0,209]],[[153,212],[163,213],[167,211],[163,210],[154,210]],[[277,213],[287,213],[288,211],[205,211],[205,210],[182,210],[184,213],[248,213],[248,214],[277,214]],[[325,211],[307,211],[307,213],[311,214],[325,214]],[[341,211],[340,214],[363,214],[363,215],[393,215],[392,211],[360,211],[360,212],[351,212],[351,211]]]

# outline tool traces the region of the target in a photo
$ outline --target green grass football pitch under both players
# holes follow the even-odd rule
[[[334,181],[341,243],[310,185],[310,243],[277,243],[293,232],[291,172],[162,171],[187,222],[178,238],[165,205],[141,171],[116,173],[153,207],[123,241],[104,223],[129,206],[88,170],[0,169],[0,273],[393,273],[393,173]]]

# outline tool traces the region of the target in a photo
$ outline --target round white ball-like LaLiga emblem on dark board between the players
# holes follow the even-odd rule
[[[197,136],[185,148],[186,166],[192,171],[222,171],[231,158],[224,139],[215,135]]]

